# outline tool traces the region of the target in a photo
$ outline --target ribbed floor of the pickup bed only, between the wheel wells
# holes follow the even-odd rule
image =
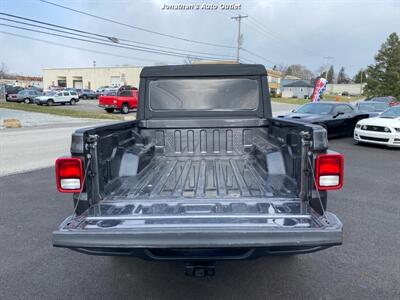
[[[162,198],[294,197],[295,181],[269,175],[251,155],[153,158],[136,176],[110,183],[107,200]]]

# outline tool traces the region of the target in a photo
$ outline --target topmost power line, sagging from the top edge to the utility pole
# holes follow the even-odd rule
[[[82,15],[86,15],[86,16],[89,16],[89,17],[92,17],[92,18],[96,18],[96,19],[99,19],[99,20],[111,22],[111,23],[118,24],[118,25],[122,25],[122,26],[129,27],[129,28],[132,28],[132,29],[144,31],[144,32],[147,32],[147,33],[152,33],[152,34],[156,34],[156,35],[159,35],[159,36],[172,38],[172,39],[175,39],[175,40],[181,40],[181,41],[184,41],[184,42],[195,43],[195,44],[206,45],[206,46],[213,46],[213,47],[220,47],[220,48],[228,48],[228,49],[234,48],[234,47],[228,46],[228,45],[208,43],[208,42],[204,42],[204,41],[197,41],[197,40],[192,40],[192,39],[188,39],[188,38],[184,38],[184,37],[180,37],[180,36],[175,36],[175,35],[170,35],[170,34],[166,34],[166,33],[157,32],[157,31],[146,29],[146,28],[139,27],[139,26],[133,26],[133,25],[126,24],[126,23],[123,23],[123,22],[119,22],[119,21],[116,21],[116,20],[113,20],[113,19],[108,19],[108,18],[105,18],[105,17],[101,17],[101,16],[97,16],[97,15],[94,15],[94,14],[91,14],[91,13],[84,12],[84,11],[81,11],[81,10],[78,10],[78,9],[74,9],[74,8],[70,8],[70,7],[67,7],[67,6],[64,6],[64,5],[53,3],[53,2],[50,2],[50,1],[47,1],[47,0],[39,0],[39,1],[43,2],[43,3],[47,3],[47,4],[50,4],[50,5],[53,5],[53,6],[57,6],[57,7],[63,8],[63,9],[67,9],[69,11],[73,11],[73,12],[76,12],[76,13],[79,13],[79,14],[82,14]]]

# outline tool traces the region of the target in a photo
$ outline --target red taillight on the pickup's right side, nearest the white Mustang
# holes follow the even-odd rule
[[[319,154],[315,160],[317,189],[337,190],[343,186],[343,155]]]

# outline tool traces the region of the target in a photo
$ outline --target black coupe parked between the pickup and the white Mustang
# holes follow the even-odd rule
[[[329,137],[334,137],[352,136],[357,122],[368,118],[369,114],[347,103],[324,101],[304,104],[292,113],[278,117],[319,124],[328,131]]]

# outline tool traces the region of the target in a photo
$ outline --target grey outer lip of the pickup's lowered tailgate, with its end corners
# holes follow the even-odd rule
[[[53,232],[56,247],[97,249],[96,253],[132,252],[133,249],[172,248],[316,248],[340,245],[343,226],[332,213],[326,213],[326,226],[319,228],[276,228],[268,226],[203,227],[203,228],[135,228],[102,230],[68,230],[67,218],[59,230]],[[320,248],[320,249],[319,249]],[[131,251],[132,250],[132,251]],[[100,253],[99,253],[100,251]],[[86,251],[90,252],[90,251]],[[117,254],[111,254],[117,255]]]

